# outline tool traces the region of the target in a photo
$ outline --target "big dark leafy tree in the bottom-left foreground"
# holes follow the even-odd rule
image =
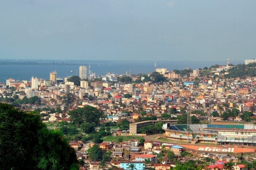
[[[0,169],[78,169],[74,149],[39,114],[0,103],[0,122]]]

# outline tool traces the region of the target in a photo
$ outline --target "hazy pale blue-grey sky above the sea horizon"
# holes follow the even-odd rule
[[[244,61],[255,0],[0,0],[0,59]]]

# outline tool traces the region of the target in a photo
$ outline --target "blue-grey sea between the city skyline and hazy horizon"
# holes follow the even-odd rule
[[[107,72],[114,74],[125,74],[126,71],[131,74],[150,73],[154,71],[154,61],[78,61],[78,60],[0,60],[0,82],[6,82],[6,79],[31,80],[31,77],[49,79],[49,72],[57,71],[57,77],[65,78],[67,76],[79,75],[79,66],[91,66],[91,71],[97,75],[105,75]],[[12,64],[6,65],[3,62]],[[21,65],[23,62],[51,63],[51,65]],[[63,63],[62,63],[63,62]],[[17,63],[17,64],[16,64]],[[59,63],[61,65],[54,65]],[[157,68],[167,68],[167,70],[183,70],[185,68],[198,69],[210,67],[215,64],[226,65],[227,61],[157,61]],[[236,65],[244,61],[230,61]],[[72,65],[71,65],[72,64]],[[72,73],[67,72],[73,70]],[[78,70],[78,71],[77,71]]]

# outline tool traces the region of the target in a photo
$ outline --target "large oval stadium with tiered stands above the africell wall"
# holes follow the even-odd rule
[[[176,141],[217,145],[256,146],[253,124],[163,124],[165,137]]]

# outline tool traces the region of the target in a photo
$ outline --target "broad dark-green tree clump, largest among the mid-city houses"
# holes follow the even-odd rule
[[[81,123],[91,123],[95,126],[99,125],[100,117],[102,113],[97,110],[97,108],[92,106],[85,106],[83,108],[77,108],[69,111],[68,115],[71,116],[71,121],[73,124],[80,126]]]

